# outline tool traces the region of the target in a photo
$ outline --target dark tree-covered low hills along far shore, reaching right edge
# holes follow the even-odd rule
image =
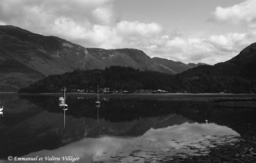
[[[214,66],[204,65],[180,74],[169,75],[154,71],[141,71],[132,67],[110,66],[105,70],[75,70],[51,75],[19,92],[56,93],[62,92],[64,86],[68,91],[72,89],[95,91],[97,85],[101,88],[109,87],[111,91],[127,90],[129,92],[141,89],[162,89],[172,93],[256,92],[256,80],[243,78],[236,72],[229,69],[223,71],[222,68],[218,70]]]

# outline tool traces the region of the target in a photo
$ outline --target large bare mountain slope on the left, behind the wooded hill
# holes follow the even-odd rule
[[[0,91],[17,91],[51,74],[111,65],[175,73],[137,49],[85,48],[59,37],[0,26]]]

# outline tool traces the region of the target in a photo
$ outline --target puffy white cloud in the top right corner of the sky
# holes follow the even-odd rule
[[[246,23],[251,26],[256,23],[256,1],[248,0],[232,7],[217,7],[212,12],[212,20],[221,23],[241,24]]]

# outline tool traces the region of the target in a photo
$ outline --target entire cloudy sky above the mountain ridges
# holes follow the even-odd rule
[[[256,0],[1,0],[0,25],[214,65],[256,42]]]

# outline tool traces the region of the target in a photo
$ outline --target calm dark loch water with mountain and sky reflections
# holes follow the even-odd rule
[[[0,93],[0,162],[9,156],[37,162],[167,161],[208,154],[212,147],[237,141],[241,126],[256,125],[253,102],[129,95],[103,97],[97,109],[96,98],[68,95],[64,128],[58,97]]]

